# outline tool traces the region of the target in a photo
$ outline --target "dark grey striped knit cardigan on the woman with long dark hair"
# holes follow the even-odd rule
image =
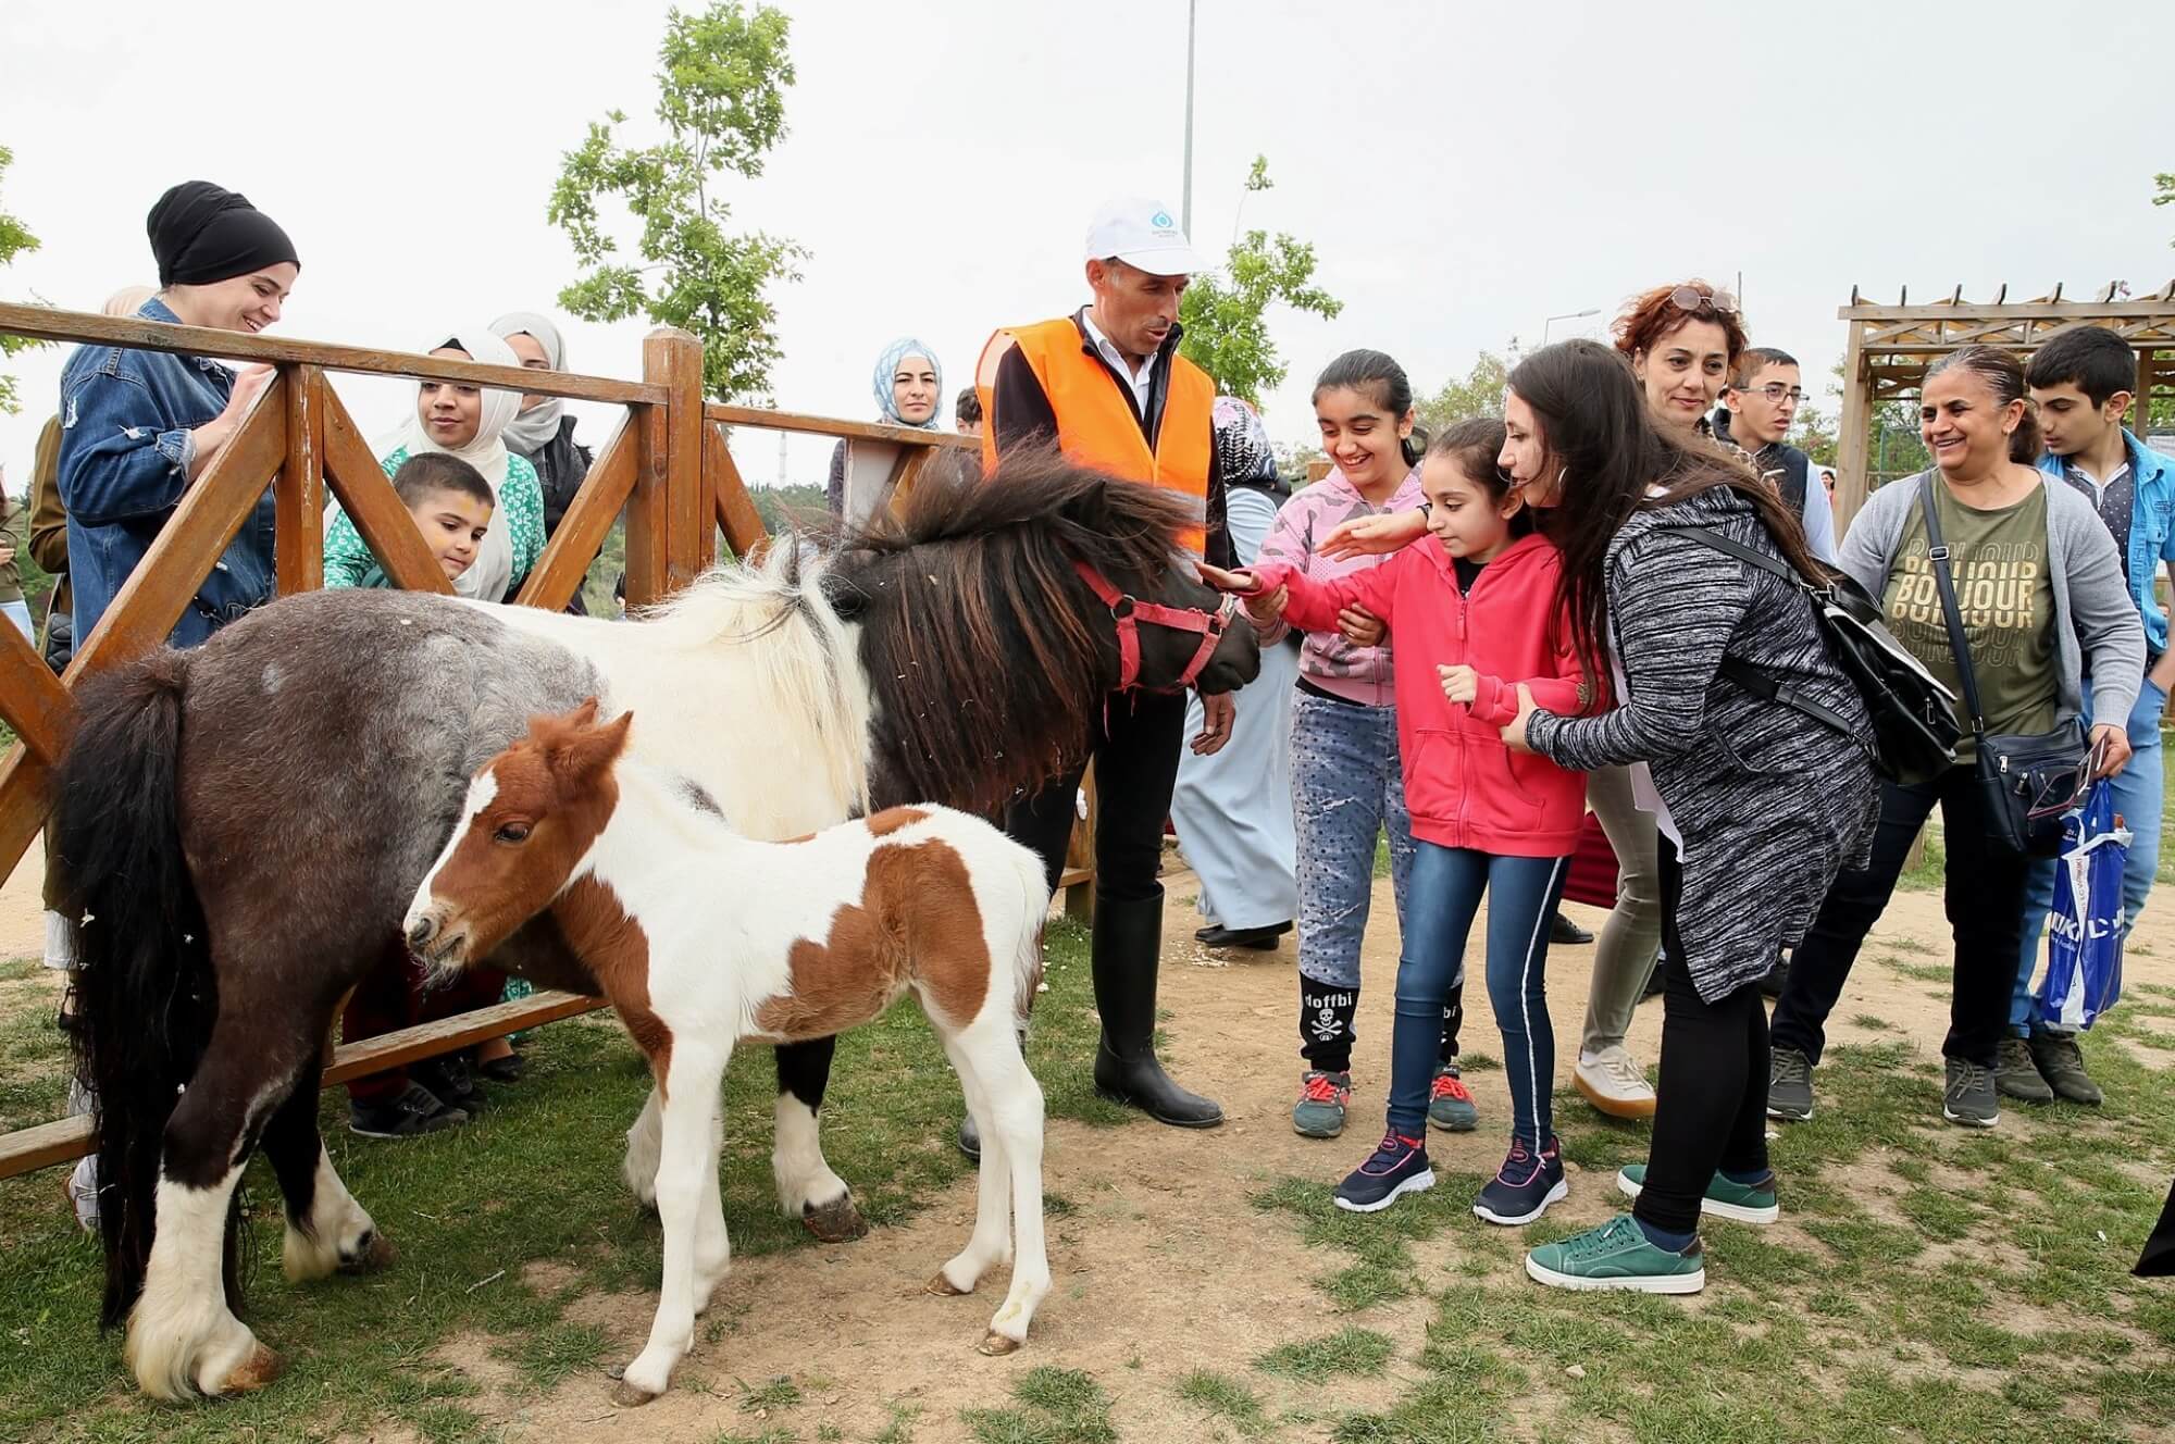
[[[1777,555],[1729,487],[1644,507],[1607,550],[1609,628],[1629,698],[1592,718],[1538,711],[1536,752],[1592,772],[1644,761],[1683,835],[1677,939],[1707,1003],[1757,983],[1794,948],[1844,866],[1870,861],[1879,789],[1849,737],[1720,676],[1742,657],[1849,718],[1870,722],[1790,583],[1670,531],[1707,526]]]

